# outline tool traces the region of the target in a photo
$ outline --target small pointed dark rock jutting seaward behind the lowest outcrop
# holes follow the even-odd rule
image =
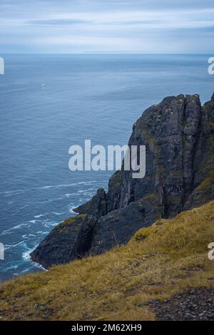
[[[86,204],[81,205],[73,209],[73,212],[78,214],[88,214],[95,215],[97,218],[106,215],[107,213],[107,202],[106,202],[106,192],[103,188],[97,190],[96,195],[86,202]]]

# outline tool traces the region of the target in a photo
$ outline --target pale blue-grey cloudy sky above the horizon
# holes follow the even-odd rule
[[[213,53],[213,0],[0,0],[0,53]]]

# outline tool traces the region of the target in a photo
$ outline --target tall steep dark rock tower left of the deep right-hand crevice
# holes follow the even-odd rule
[[[112,197],[110,181],[108,210],[123,208],[153,193],[162,203],[161,217],[172,217],[183,209],[193,191],[200,113],[199,97],[183,95],[165,98],[143,113],[133,126],[128,145],[146,145],[146,177],[136,180],[133,171],[122,170],[117,197]]]

